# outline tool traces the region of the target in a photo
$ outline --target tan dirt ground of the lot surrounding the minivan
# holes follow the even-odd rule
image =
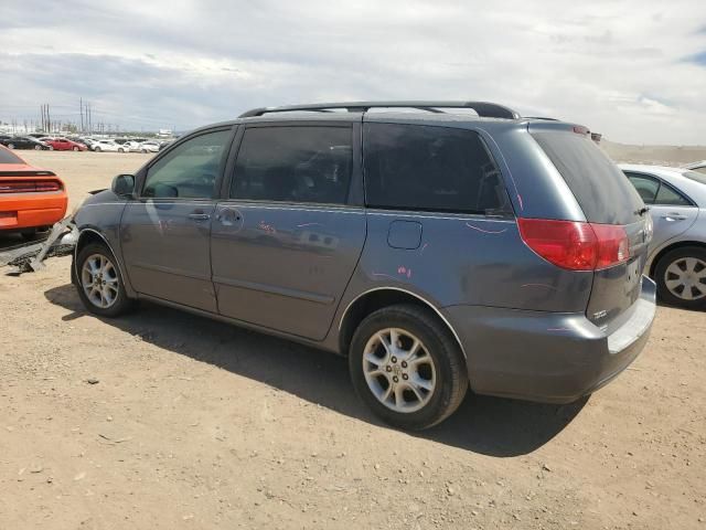
[[[147,158],[26,153],[74,204]],[[706,529],[703,312],[660,307],[588,400],[469,395],[415,435],[343,359],[147,304],[100,320],[68,267],[0,275],[0,529]]]

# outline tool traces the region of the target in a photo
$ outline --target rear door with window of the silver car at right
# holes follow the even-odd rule
[[[651,252],[659,251],[667,241],[686,232],[698,215],[698,208],[672,186],[654,174],[641,171],[625,171],[635,187],[654,223]]]

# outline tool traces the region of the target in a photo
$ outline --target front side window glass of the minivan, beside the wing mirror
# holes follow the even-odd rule
[[[213,198],[229,138],[231,130],[207,132],[169,151],[149,168],[142,197]]]

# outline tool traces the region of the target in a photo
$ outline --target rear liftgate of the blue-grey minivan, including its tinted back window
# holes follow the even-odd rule
[[[596,271],[587,317],[609,331],[641,293],[648,257],[644,202],[624,173],[582,128],[566,124],[533,124],[530,132],[559,171],[592,224],[622,226],[628,236],[627,262]]]

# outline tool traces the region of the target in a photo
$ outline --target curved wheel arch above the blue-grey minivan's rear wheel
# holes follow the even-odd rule
[[[339,352],[347,357],[353,333],[365,317],[377,309],[398,304],[411,304],[428,309],[429,312],[451,332],[451,336],[463,354],[463,359],[468,362],[461,339],[453,329],[453,326],[451,326],[451,322],[449,322],[441,311],[422,296],[399,287],[376,287],[361,293],[351,300],[339,320]]]

